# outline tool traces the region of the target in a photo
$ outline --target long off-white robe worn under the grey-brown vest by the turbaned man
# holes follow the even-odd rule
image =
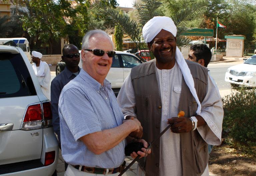
[[[167,127],[167,119],[176,117],[178,114],[179,97],[181,93],[182,72],[177,63],[170,70],[157,70],[158,86],[161,91],[162,100],[162,123],[161,131]],[[133,115],[135,106],[135,97],[130,75],[124,81],[124,84],[118,94],[117,102],[124,115]],[[198,127],[197,130],[202,138],[211,145],[219,145],[221,142],[223,109],[219,92],[214,83],[208,76],[208,85],[206,96],[201,103],[201,116],[207,125]],[[210,127],[210,128],[209,128]],[[151,141],[148,141],[151,142]],[[180,134],[172,133],[171,130],[163,134],[160,140],[160,176],[182,175]],[[142,173],[138,167],[138,173]],[[203,176],[209,175],[208,166]]]

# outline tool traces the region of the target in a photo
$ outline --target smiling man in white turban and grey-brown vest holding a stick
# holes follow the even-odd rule
[[[142,35],[155,59],[132,68],[117,97],[124,115],[141,122],[146,141],[172,124],[139,161],[138,175],[209,175],[207,143],[221,143],[221,98],[207,68],[183,58],[176,33],[169,17],[145,24]],[[177,117],[181,110],[185,116]]]

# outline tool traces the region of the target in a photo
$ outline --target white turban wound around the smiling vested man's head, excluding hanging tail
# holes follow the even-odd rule
[[[177,28],[172,19],[166,16],[155,16],[142,28],[142,35],[146,43],[151,42],[162,29],[169,31],[176,37]]]

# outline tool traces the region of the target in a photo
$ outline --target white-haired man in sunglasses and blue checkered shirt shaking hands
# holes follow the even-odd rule
[[[119,175],[125,167],[125,139],[142,136],[137,119],[124,120],[111,84],[105,79],[115,55],[113,48],[104,31],[87,32],[82,42],[82,69],[61,92],[61,148],[69,164],[66,176]],[[148,147],[145,140],[138,142],[144,148],[133,152],[133,158],[144,157]]]

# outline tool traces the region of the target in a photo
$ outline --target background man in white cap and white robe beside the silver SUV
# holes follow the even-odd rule
[[[51,83],[51,72],[49,65],[46,62],[41,61],[43,57],[42,53],[32,51],[32,68],[38,78],[39,84],[43,94],[51,100],[50,83]]]

